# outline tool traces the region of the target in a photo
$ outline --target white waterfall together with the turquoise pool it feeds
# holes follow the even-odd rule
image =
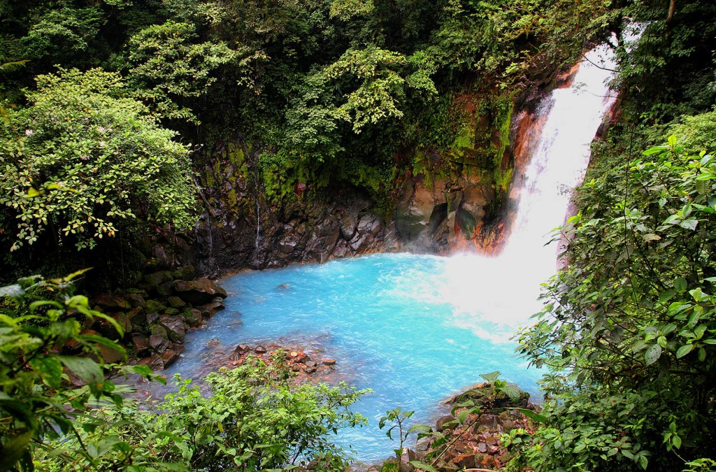
[[[603,47],[587,57],[604,56]],[[556,271],[556,248],[544,244],[564,221],[589,143],[614,100],[608,78],[584,62],[574,85],[543,105],[549,115],[518,179],[521,199],[498,256],[382,254],[227,277],[226,311],[187,337],[182,360],[166,373],[199,377],[212,338],[226,355],[240,342],[325,350],[342,378],[374,390],[355,405],[369,425],[339,435],[368,462],[397,447],[377,428],[396,406],[417,410],[417,422],[435,419],[441,400],[493,370],[538,395],[540,372],[516,357],[511,336],[538,311],[540,284]]]

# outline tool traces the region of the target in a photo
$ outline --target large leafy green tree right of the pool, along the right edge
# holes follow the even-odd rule
[[[678,470],[713,443],[716,160],[668,145],[585,184],[521,352],[548,367],[536,471]]]

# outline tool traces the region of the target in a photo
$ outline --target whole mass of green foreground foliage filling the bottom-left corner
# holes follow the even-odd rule
[[[92,329],[121,327],[74,294],[73,279],[29,277],[0,287],[0,470],[342,470],[340,428],[365,423],[349,406],[366,390],[294,385],[283,353],[190,380],[150,411],[117,379],[163,381],[145,365],[105,362],[125,350]],[[114,357],[114,356],[112,356]],[[111,358],[111,357],[110,357]]]

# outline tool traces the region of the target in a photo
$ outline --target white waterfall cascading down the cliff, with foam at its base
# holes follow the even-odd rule
[[[571,194],[584,178],[589,145],[616,99],[606,45],[586,54],[569,88],[553,90],[548,114],[523,178],[511,233],[498,256],[457,254],[446,265],[440,297],[455,306],[455,323],[493,342],[539,311],[540,286],[556,272],[558,245],[545,244],[566,219]],[[476,300],[476,298],[478,300]],[[479,307],[479,308],[477,308]]]

